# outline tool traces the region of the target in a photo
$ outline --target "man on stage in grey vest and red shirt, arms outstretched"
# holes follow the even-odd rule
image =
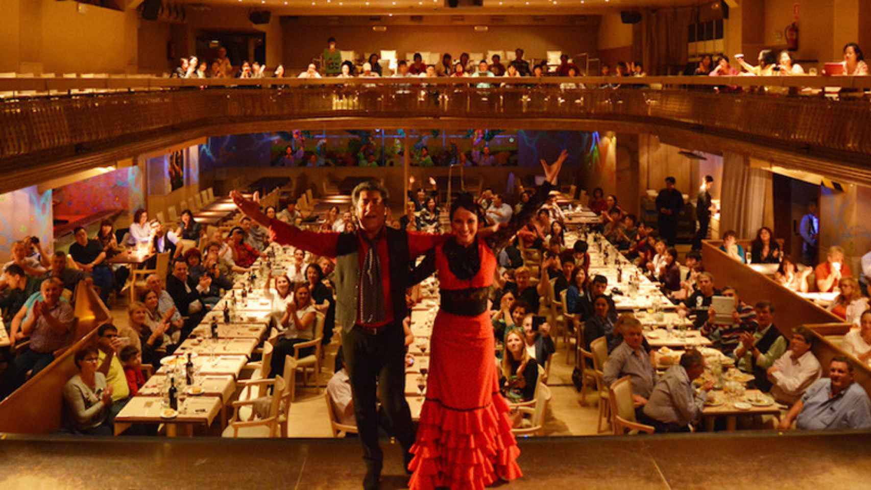
[[[377,488],[383,460],[375,409],[378,399],[405,451],[406,468],[411,460],[408,449],[415,442],[405,399],[402,331],[402,319],[408,314],[405,292],[411,285],[408,263],[449,235],[406,232],[386,226],[388,191],[374,181],[357,185],[351,193],[359,223],[353,233],[303,231],[267,218],[260,205],[237,191],[231,196],[242,212],[269,227],[274,242],[336,259],[335,325],[342,329],[342,353],[351,379],[354,417],[366,461],[363,487]]]

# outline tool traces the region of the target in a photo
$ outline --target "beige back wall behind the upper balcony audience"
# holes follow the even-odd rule
[[[511,26],[490,25],[487,32],[476,32],[472,25],[388,25],[386,32],[375,32],[370,25],[294,25],[285,24],[284,63],[299,69],[321,55],[327,37],[335,36],[340,50],[372,53],[396,50],[397,57],[407,52],[439,51],[459,57],[462,52],[509,50],[523,47],[526,58],[542,58],[547,50],[562,50],[571,57],[582,52],[595,53],[596,30],[572,25]],[[267,42],[267,47],[269,43]],[[505,60],[503,60],[504,62]]]

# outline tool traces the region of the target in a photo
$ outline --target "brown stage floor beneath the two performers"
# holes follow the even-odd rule
[[[0,487],[360,488],[356,440],[107,440],[0,436]],[[742,433],[520,442],[524,477],[506,489],[871,488],[871,433]],[[384,443],[384,490],[403,488]]]

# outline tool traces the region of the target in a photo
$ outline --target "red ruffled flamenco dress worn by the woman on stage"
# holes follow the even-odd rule
[[[450,271],[442,247],[435,250],[442,291],[483,292],[492,284],[496,257],[483,240],[478,241],[480,268],[468,280]],[[409,487],[481,489],[498,479],[517,479],[523,475],[516,461],[520,449],[511,433],[508,402],[499,393],[490,316],[486,308],[475,316],[446,312],[444,302],[443,292],[430,339],[427,395],[411,448]]]

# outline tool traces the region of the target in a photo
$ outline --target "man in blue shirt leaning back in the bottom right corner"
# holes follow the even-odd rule
[[[867,429],[871,427],[871,400],[865,389],[853,382],[853,365],[845,356],[835,356],[828,378],[817,379],[780,421],[780,429]]]

